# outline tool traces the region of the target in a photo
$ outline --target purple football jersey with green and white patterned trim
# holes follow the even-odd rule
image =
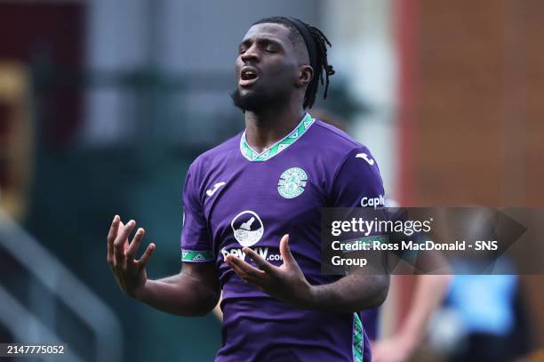
[[[215,262],[219,269],[224,322],[216,361],[370,361],[357,313],[293,308],[245,284],[224,257],[254,265],[242,253],[248,246],[281,265],[279,241],[289,234],[308,282],[331,283],[340,277],[321,273],[321,208],[383,199],[369,150],[308,114],[262,153],[242,133],[198,157],[183,192],[181,251],[184,262]]]

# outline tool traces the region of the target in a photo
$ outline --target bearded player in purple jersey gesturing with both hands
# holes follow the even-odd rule
[[[321,208],[384,195],[369,150],[305,112],[334,73],[326,44],[317,28],[283,17],[244,36],[233,101],[245,131],[189,167],[180,274],[147,278],[156,246],[134,259],[144,234],[129,244],[134,221],[116,216],[109,231],[108,261],[133,298],[202,316],[222,290],[217,361],[371,359],[358,312],[384,301],[388,276],[321,273]]]

